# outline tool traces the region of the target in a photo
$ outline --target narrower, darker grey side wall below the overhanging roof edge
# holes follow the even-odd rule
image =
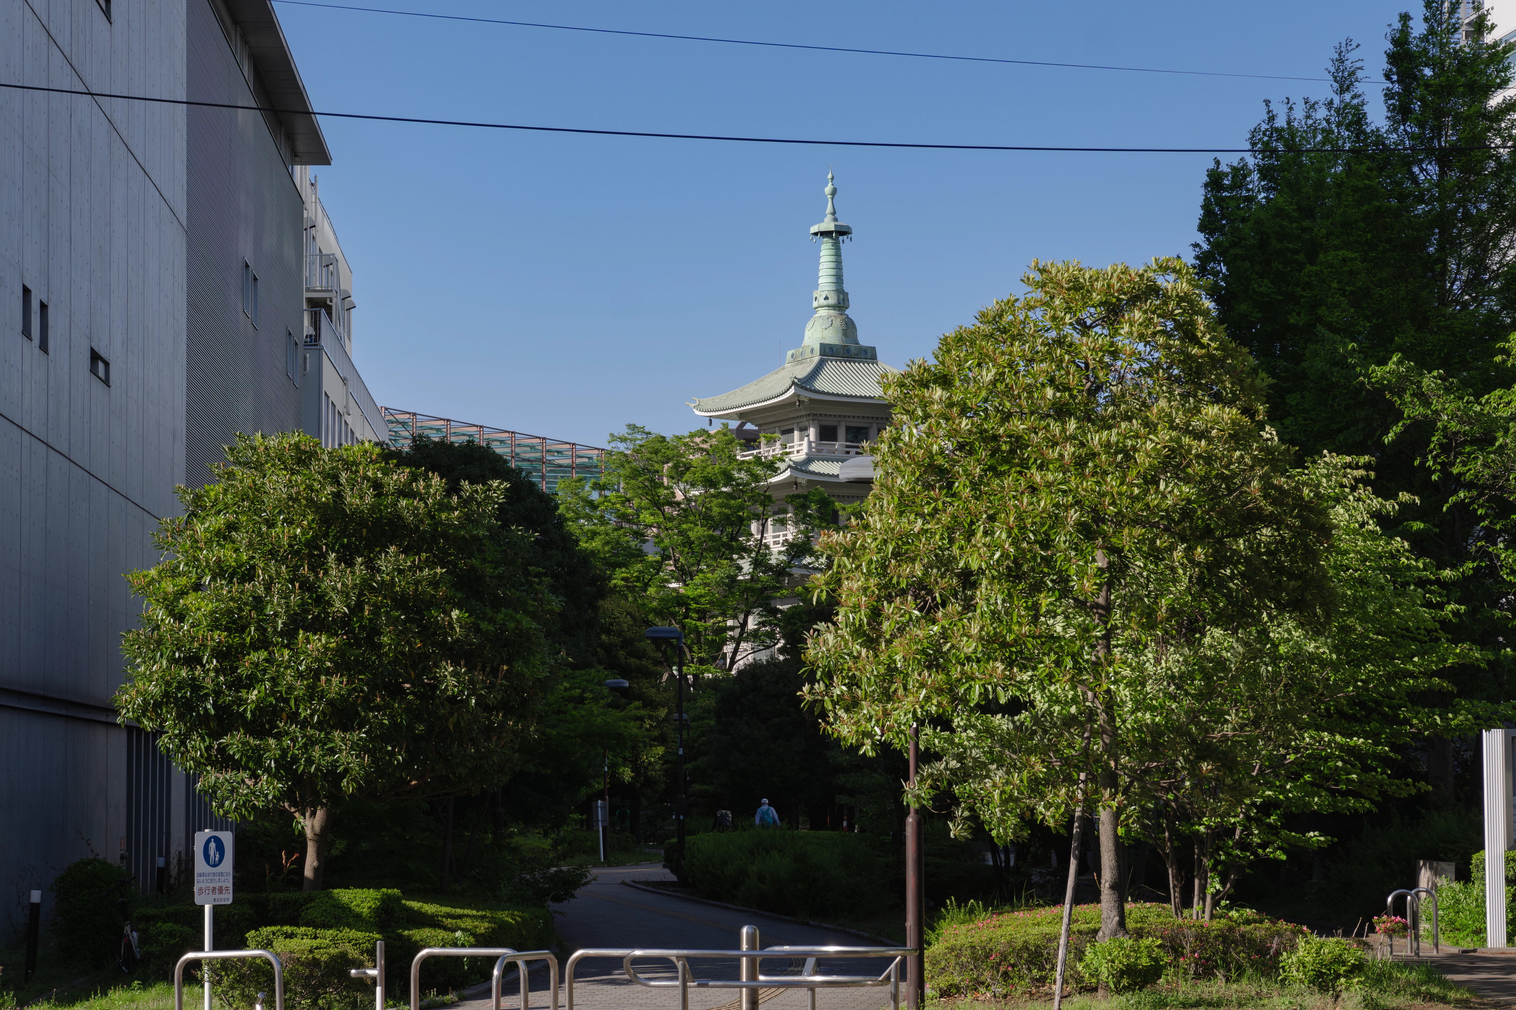
[[[188,2],[188,89],[203,101],[253,94],[206,0]],[[285,373],[285,335],[305,333],[305,203],[258,112],[190,109],[188,403],[185,479],[238,432],[300,429],[300,391]],[[258,274],[258,326],[243,310],[243,262]]]

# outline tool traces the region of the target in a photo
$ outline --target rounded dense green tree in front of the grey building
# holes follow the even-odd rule
[[[550,674],[556,603],[497,515],[462,485],[371,444],[238,436],[217,480],[179,489],[164,560],[127,575],[123,719],[162,733],[227,816],[283,809],[321,886],[334,806],[500,781]]]

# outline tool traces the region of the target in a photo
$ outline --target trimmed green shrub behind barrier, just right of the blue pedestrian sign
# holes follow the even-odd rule
[[[352,978],[353,968],[367,968],[377,933],[356,930],[317,930],[300,925],[271,925],[247,934],[249,949],[273,951],[283,963],[285,1005],[330,1010],[358,1001],[367,983]],[[253,1004],[259,992],[271,998],[274,971],[264,959],[217,962],[212,992],[229,1010]]]

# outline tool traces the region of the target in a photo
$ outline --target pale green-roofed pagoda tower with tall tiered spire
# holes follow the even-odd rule
[[[858,342],[843,288],[843,241],[852,238],[852,229],[837,220],[831,173],[825,192],[826,220],[811,226],[811,241],[822,242],[822,268],[805,339],[763,379],[690,406],[702,418],[735,421],[737,436],[756,447],[749,453],[784,459],[769,485],[776,498],[822,488],[838,503],[852,504],[873,488],[869,442],[890,422],[879,377],[896,369]]]

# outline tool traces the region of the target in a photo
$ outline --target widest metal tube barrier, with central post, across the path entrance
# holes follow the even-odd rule
[[[753,927],[743,927],[743,933]],[[679,990],[679,1010],[690,1010],[690,989],[740,989],[744,993],[753,990],[756,995],[758,989],[808,989],[811,1010],[816,1008],[816,990],[817,989],[869,989],[869,987],[890,987],[890,1005],[893,1010],[901,1010],[901,959],[910,957],[916,951],[913,948],[904,946],[766,946],[761,949],[738,949],[738,951],[696,951],[696,949],[653,949],[653,948],[634,948],[634,949],[609,949],[609,948],[585,948],[575,951],[573,957],[568,959],[568,965],[564,969],[567,980],[567,1007],[565,1010],[573,1010],[573,972],[575,966],[587,957],[615,957],[622,962],[622,971],[626,977],[637,983],[638,986],[646,986],[647,989],[678,989]],[[650,978],[643,978],[632,962],[637,959],[659,959],[669,960],[675,965],[676,980],[675,981],[653,981]],[[758,971],[760,962],[766,957],[787,957],[805,959],[805,968],[800,975],[764,975]],[[823,957],[834,959],[875,959],[888,957],[893,959],[890,966],[885,968],[878,977],[872,975],[814,975],[816,962]],[[731,959],[741,965],[741,978],[709,978],[700,980],[694,978],[690,971],[690,959]],[[752,963],[752,969],[749,969]],[[749,977],[750,975],[750,977]]]

